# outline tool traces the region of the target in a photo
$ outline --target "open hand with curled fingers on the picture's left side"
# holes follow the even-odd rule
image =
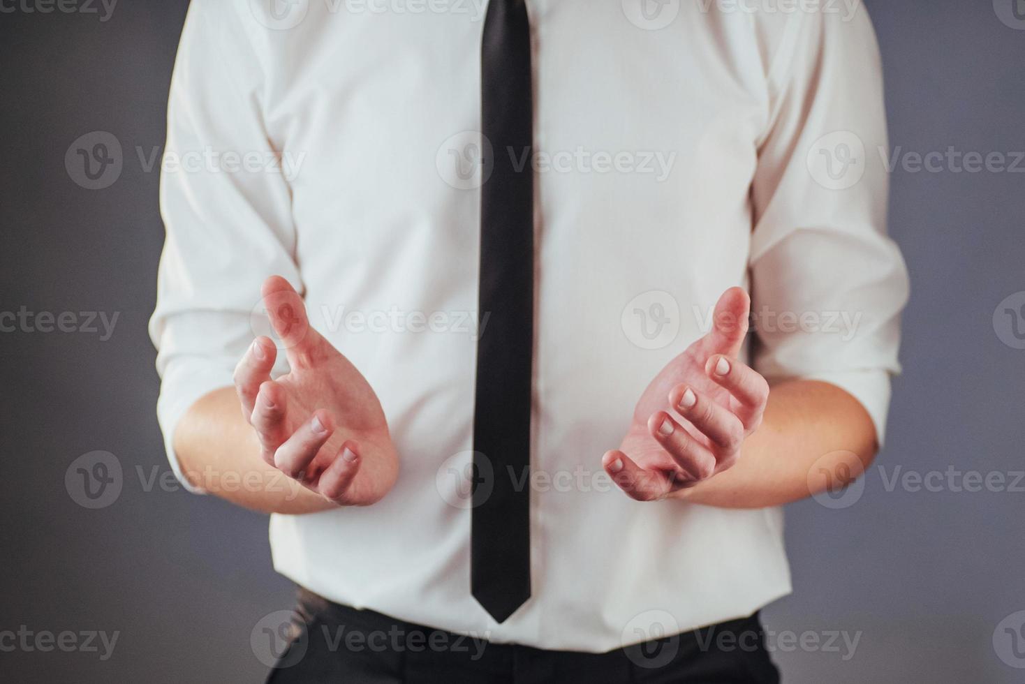
[[[399,471],[377,395],[310,325],[285,279],[269,277],[261,294],[289,372],[271,379],[278,347],[258,337],[235,369],[235,389],[263,460],[336,505],[377,502]]]

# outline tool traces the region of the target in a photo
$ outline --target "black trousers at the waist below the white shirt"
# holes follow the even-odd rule
[[[757,613],[608,653],[493,644],[357,610],[306,591],[299,593],[297,614],[302,629],[269,684],[779,682]]]

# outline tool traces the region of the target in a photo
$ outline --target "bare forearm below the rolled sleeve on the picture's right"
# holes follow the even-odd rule
[[[778,506],[825,488],[823,470],[860,474],[875,451],[875,428],[857,399],[828,383],[788,381],[772,388],[764,422],[737,464],[683,497],[720,508]]]

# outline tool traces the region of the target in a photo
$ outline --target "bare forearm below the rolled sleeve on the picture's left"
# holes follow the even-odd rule
[[[214,390],[186,413],[174,451],[189,481],[263,513],[315,513],[335,508],[260,458],[259,441],[232,387]]]

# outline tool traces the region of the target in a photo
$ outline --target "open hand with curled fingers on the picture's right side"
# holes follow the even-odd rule
[[[742,364],[750,298],[727,290],[712,330],[662,369],[645,389],[618,450],[602,464],[638,501],[685,496],[731,466],[762,424],[769,383]]]

